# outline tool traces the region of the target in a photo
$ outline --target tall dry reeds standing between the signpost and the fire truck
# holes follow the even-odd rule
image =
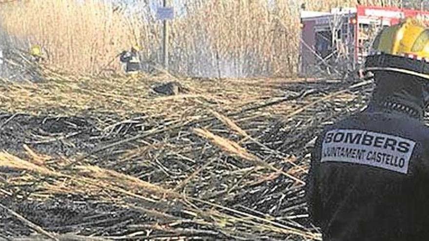
[[[298,54],[293,39],[298,34],[297,11],[279,0],[277,7],[268,1],[207,1],[190,9],[188,18],[176,20],[178,35],[173,56],[187,59],[187,72],[197,75],[254,76],[289,74]],[[297,9],[296,9],[297,10]],[[185,31],[183,31],[185,29]],[[291,41],[292,40],[292,41]],[[289,66],[284,69],[284,65]]]

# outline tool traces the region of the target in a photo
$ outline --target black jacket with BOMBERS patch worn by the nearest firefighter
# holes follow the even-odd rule
[[[306,195],[324,241],[429,241],[429,129],[375,107],[326,127]]]

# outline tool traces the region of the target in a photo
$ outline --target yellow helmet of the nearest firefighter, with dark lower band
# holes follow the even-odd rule
[[[386,27],[374,39],[365,71],[393,71],[429,79],[429,29],[414,19]]]

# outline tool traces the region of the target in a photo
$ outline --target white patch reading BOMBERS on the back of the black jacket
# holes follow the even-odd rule
[[[322,143],[321,162],[347,162],[407,174],[415,142],[366,130],[330,130]]]

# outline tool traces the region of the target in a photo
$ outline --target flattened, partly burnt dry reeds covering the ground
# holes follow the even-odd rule
[[[371,89],[37,73],[0,83],[9,240],[321,240],[304,200],[314,137]],[[154,91],[172,82],[178,93]]]

